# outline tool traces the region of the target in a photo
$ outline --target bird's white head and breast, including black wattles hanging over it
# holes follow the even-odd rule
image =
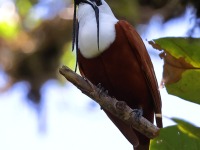
[[[78,47],[87,58],[98,56],[114,41],[115,24],[118,20],[104,0],[75,0],[75,2],[79,6]]]

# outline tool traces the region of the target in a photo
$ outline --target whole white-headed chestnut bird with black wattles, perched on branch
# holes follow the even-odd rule
[[[74,0],[73,26],[72,45],[81,75],[95,85],[100,83],[109,96],[141,110],[150,122],[155,117],[162,128],[162,102],[153,64],[134,27],[118,20],[105,0]],[[103,110],[135,150],[149,149],[149,138]]]

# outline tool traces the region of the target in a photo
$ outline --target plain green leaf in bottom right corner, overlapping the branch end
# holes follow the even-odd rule
[[[177,125],[160,130],[151,140],[150,150],[199,150],[200,140],[182,132]]]

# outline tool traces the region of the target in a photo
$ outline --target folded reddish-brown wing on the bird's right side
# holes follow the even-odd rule
[[[118,24],[121,26],[121,28],[124,31],[124,34],[127,37],[127,40],[131,47],[136,50],[135,54],[137,55],[138,62],[142,65],[144,75],[146,77],[149,89],[151,91],[151,95],[154,100],[154,110],[156,114],[161,114],[161,97],[160,92],[155,76],[155,72],[153,69],[153,64],[151,62],[151,59],[149,57],[149,54],[147,53],[146,47],[140,37],[140,35],[137,33],[137,31],[130,25],[128,22],[120,20]],[[156,123],[158,127],[162,127],[162,118],[156,117]]]

